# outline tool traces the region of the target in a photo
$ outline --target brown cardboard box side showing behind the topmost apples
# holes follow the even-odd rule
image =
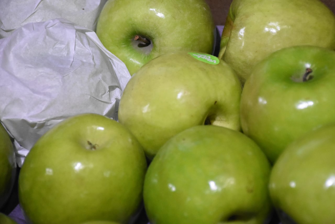
[[[335,13],[335,0],[321,0]],[[232,0],[206,0],[212,9],[215,25],[224,25]]]

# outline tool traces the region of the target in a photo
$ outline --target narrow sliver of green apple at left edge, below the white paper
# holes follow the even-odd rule
[[[16,178],[15,152],[6,129],[0,123],[0,209],[12,192]]]

